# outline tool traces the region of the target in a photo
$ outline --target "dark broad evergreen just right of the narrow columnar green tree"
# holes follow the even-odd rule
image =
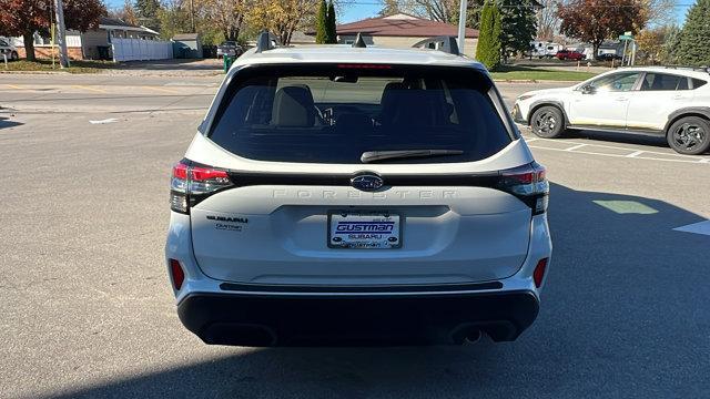
[[[535,0],[500,0],[503,32],[500,48],[503,59],[515,52],[530,50],[530,41],[537,34],[537,16]]]

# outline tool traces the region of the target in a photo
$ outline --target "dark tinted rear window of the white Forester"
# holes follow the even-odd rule
[[[209,136],[252,160],[362,163],[373,151],[450,150],[378,163],[469,162],[511,141],[480,72],[397,65],[268,65],[237,72]]]

